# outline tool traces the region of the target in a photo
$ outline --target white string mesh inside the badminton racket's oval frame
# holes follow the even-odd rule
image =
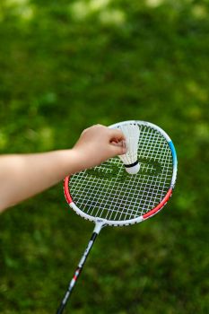
[[[140,174],[123,178],[124,166],[117,157],[96,167],[94,173],[83,171],[70,180],[71,196],[84,213],[108,220],[129,220],[158,205],[168,192],[172,178],[169,144],[155,129],[149,126],[140,128]],[[155,174],[157,166],[161,171]],[[111,174],[111,167],[118,168],[117,175]]]

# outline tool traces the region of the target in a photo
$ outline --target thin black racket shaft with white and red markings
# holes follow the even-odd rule
[[[83,257],[81,258],[81,260],[80,260],[80,262],[79,262],[79,264],[78,264],[78,266],[74,272],[74,276],[73,276],[71,282],[69,283],[67,291],[65,292],[65,296],[63,298],[63,301],[60,303],[60,306],[57,310],[57,314],[63,313],[63,310],[65,309],[65,306],[66,306],[66,303],[69,300],[69,297],[70,297],[70,295],[74,289],[74,284],[77,282],[77,279],[82,272],[83,265],[85,264],[85,261],[86,261],[88,255],[91,251],[91,248],[92,248],[93,243],[96,240],[97,236],[98,236],[97,232],[92,233],[91,240],[89,241],[89,243],[88,243],[88,245],[87,245],[87,247],[83,253]]]

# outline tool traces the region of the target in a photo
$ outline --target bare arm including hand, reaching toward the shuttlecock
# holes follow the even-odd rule
[[[65,176],[126,153],[124,135],[106,126],[83,131],[74,148],[0,157],[0,212],[49,188]]]

